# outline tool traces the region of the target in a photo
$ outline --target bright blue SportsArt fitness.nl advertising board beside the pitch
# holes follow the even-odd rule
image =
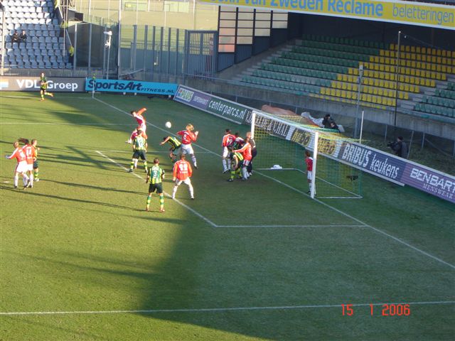
[[[177,85],[173,83],[142,82],[140,80],[97,80],[87,78],[85,91],[125,92],[134,94],[167,94],[173,96]]]

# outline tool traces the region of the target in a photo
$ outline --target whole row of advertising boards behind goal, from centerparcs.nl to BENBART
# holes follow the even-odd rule
[[[191,87],[178,86],[174,100],[238,124],[251,124],[253,110],[245,105],[201,92]],[[269,134],[293,141],[312,149],[314,134],[290,126],[284,121],[257,117],[256,125]],[[260,144],[257,144],[260,148]],[[422,166],[391,153],[351,141],[327,140],[319,136],[319,151],[323,156],[345,163],[398,185],[410,185],[431,195],[455,203],[455,177]],[[303,161],[302,161],[303,162]]]

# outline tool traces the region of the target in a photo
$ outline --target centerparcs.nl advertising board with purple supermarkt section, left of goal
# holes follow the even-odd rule
[[[213,96],[184,85],[178,85],[176,95],[173,99],[237,124],[245,123],[247,117],[251,117],[253,110],[250,107],[228,101],[228,99]]]

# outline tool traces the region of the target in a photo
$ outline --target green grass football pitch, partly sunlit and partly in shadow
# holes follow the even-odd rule
[[[164,213],[141,161],[127,173],[140,107],[166,193],[159,143],[200,131],[196,200],[181,185]],[[367,174],[351,200],[293,171],[229,183],[228,127],[250,130],[167,99],[1,92],[0,340],[453,340],[455,205]],[[41,148],[26,190],[19,137]]]

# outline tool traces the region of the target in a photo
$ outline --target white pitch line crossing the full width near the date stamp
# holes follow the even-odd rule
[[[343,304],[319,304],[319,305],[274,305],[265,307],[232,307],[232,308],[193,308],[193,309],[140,309],[140,310],[79,310],[79,311],[16,311],[0,312],[0,315],[94,315],[94,314],[154,314],[154,313],[208,313],[238,310],[296,310],[308,308],[341,308]],[[352,303],[353,307],[368,307],[371,305],[442,305],[455,304],[455,301],[427,301],[427,302],[396,302],[396,303]]]

